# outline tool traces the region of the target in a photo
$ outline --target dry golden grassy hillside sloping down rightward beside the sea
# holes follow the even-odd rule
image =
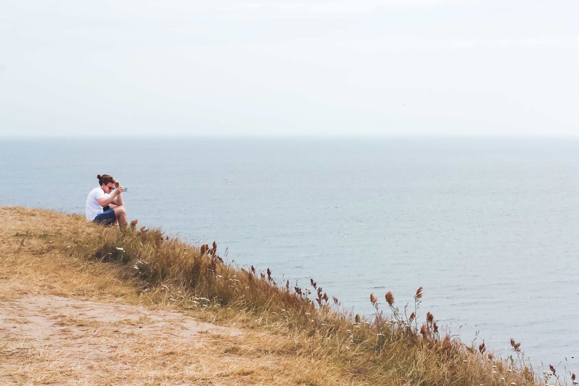
[[[385,300],[392,315],[379,311],[373,294],[374,318],[339,312],[338,300],[313,281],[311,289],[277,285],[269,269],[223,263],[215,243],[194,246],[159,230],[103,228],[80,216],[2,207],[0,257],[4,304],[36,301],[36,313],[46,316],[43,302],[67,298],[80,302],[77,308],[91,302],[105,314],[137,307],[145,315],[87,319],[63,308],[51,320],[69,329],[69,344],[53,343],[50,334],[3,340],[2,383],[545,384],[525,367],[514,341],[512,359],[493,358],[483,345],[467,347],[439,333],[430,314],[420,323],[415,313],[401,315],[391,293]],[[421,297],[419,289],[416,306]],[[112,305],[121,308],[112,312]],[[34,325],[30,316],[11,318],[22,320],[5,323],[22,331]],[[195,330],[193,319],[226,330]],[[79,359],[87,352],[96,354]],[[549,383],[566,381],[557,374]]]

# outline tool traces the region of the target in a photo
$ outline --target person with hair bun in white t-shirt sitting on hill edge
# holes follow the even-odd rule
[[[86,199],[86,220],[103,225],[126,225],[127,214],[121,195],[124,188],[108,174],[98,174],[97,179],[100,187],[91,190]],[[110,209],[103,210],[107,207]]]

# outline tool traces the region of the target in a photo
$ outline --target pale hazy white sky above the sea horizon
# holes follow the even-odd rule
[[[0,0],[0,135],[577,134],[577,1]]]

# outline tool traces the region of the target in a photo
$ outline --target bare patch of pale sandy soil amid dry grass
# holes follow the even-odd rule
[[[35,357],[36,362],[51,360],[57,367],[80,372],[95,369],[99,364],[117,370],[131,369],[135,361],[146,359],[146,351],[141,359],[133,352],[129,360],[123,360],[122,354],[131,351],[127,350],[131,342],[142,345],[142,337],[151,344],[162,345],[162,351],[167,352],[170,347],[199,347],[206,336],[241,337],[242,332],[198,322],[175,311],[53,295],[0,303],[0,341],[12,343],[2,350],[7,359]],[[0,383],[14,384],[2,374]]]

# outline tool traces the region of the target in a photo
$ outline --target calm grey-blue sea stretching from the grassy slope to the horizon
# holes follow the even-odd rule
[[[423,286],[421,321],[431,311],[465,342],[513,337],[535,366],[579,370],[578,137],[0,143],[1,205],[84,213],[112,174],[140,225],[313,278],[361,314],[372,292],[402,309]]]

